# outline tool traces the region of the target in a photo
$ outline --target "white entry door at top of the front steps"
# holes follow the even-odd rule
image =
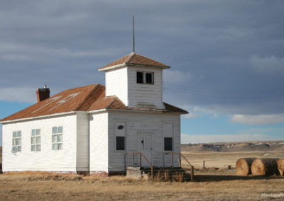
[[[138,134],[138,149],[148,161],[151,160],[151,135],[150,134]],[[142,167],[150,167],[150,164],[142,156]]]

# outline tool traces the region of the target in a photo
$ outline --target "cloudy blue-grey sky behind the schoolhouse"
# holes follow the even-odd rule
[[[284,138],[284,1],[0,1],[0,119],[35,90],[104,84],[132,52],[170,65],[182,143]],[[1,134],[1,126],[0,126]],[[1,144],[1,139],[0,139]]]

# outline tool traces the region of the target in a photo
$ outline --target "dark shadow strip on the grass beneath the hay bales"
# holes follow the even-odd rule
[[[221,180],[271,180],[284,179],[284,176],[216,176],[216,175],[195,175],[196,182],[221,181]]]

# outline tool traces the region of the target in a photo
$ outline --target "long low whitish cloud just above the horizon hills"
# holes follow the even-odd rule
[[[181,134],[182,144],[209,143],[209,142],[246,142],[273,140],[266,134]]]

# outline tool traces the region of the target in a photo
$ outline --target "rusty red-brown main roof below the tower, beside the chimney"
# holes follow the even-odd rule
[[[164,103],[165,110],[146,108],[127,108],[116,96],[105,96],[105,87],[100,84],[71,88],[30,107],[5,117],[0,122],[53,115],[72,111],[91,111],[100,109],[125,109],[161,111],[163,113],[187,113],[187,111]]]

